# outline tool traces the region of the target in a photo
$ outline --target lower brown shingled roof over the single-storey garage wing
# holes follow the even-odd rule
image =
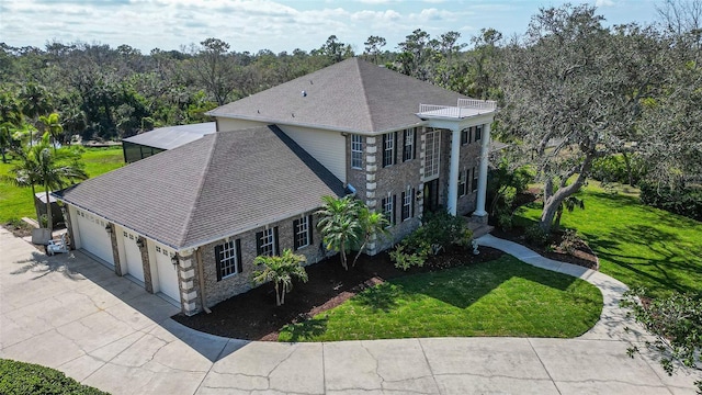
[[[183,249],[315,210],[344,189],[271,125],[206,135],[55,194]]]

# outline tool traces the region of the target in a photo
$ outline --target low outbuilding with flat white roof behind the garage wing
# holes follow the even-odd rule
[[[214,122],[157,127],[154,131],[127,137],[122,140],[124,162],[132,163],[151,155],[180,147],[190,142],[217,132]]]

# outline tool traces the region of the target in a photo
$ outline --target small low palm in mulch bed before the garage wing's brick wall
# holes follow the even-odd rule
[[[258,256],[253,264],[263,266],[262,270],[256,270],[251,275],[254,285],[272,281],[275,285],[275,305],[285,303],[285,294],[293,289],[293,278],[307,282],[307,272],[302,263],[306,262],[305,256],[295,255],[290,248],[279,256]]]

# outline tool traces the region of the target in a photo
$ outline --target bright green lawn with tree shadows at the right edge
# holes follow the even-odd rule
[[[668,291],[702,293],[702,223],[639,203],[635,193],[590,184],[585,210],[564,213],[562,224],[584,236],[600,271],[652,296]],[[521,224],[537,221],[539,205],[522,210]]]

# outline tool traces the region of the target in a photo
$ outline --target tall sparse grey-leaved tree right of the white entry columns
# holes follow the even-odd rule
[[[509,48],[499,122],[529,158],[536,155],[546,232],[563,201],[587,180],[592,160],[631,142],[667,66],[656,32],[633,25],[612,34],[601,21],[590,5],[542,9],[524,42]]]

